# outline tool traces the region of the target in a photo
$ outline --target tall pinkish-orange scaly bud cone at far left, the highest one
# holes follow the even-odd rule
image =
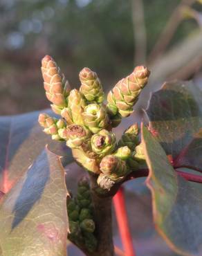
[[[44,77],[44,89],[46,90],[48,100],[53,102],[53,105],[59,109],[66,107],[66,99],[70,91],[70,86],[56,62],[48,55],[42,59],[42,75]]]

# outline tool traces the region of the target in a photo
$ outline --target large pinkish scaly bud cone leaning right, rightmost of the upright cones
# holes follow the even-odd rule
[[[120,80],[109,91],[107,95],[109,109],[113,105],[122,117],[129,116],[133,112],[133,106],[138,100],[140,91],[147,84],[149,74],[150,71],[145,66],[136,66],[133,73]]]

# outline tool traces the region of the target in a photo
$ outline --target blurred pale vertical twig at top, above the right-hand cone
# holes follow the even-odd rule
[[[147,33],[143,0],[131,0],[131,12],[134,27],[134,62],[144,64],[147,54]]]

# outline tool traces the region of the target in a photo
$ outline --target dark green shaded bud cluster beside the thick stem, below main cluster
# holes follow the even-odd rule
[[[75,244],[85,246],[93,252],[98,244],[95,237],[93,205],[89,181],[81,179],[77,184],[77,195],[67,202],[69,220],[68,238]]]

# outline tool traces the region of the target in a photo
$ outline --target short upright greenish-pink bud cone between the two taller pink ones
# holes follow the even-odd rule
[[[90,68],[83,68],[80,71],[80,93],[89,102],[101,103],[104,100],[104,92],[98,75]]]

